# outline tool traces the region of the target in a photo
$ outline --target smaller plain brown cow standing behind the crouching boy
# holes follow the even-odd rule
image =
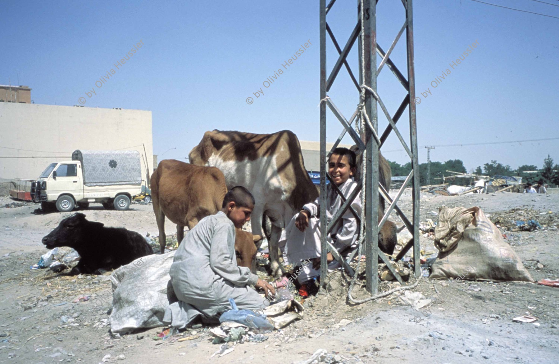
[[[184,227],[192,229],[202,218],[217,213],[227,193],[225,177],[216,167],[200,167],[173,159],[160,161],[150,182],[161,253],[165,252],[165,217],[177,224],[177,240],[181,243]],[[254,242],[260,238],[236,229],[239,266],[254,271],[257,250]]]

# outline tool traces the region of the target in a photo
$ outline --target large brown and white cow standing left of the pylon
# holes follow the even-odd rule
[[[270,268],[273,275],[281,274],[281,229],[319,195],[305,169],[297,136],[288,130],[273,134],[207,131],[188,157],[192,164],[219,168],[229,188],[241,185],[253,194],[252,233],[262,234],[262,215],[266,214],[272,222]]]

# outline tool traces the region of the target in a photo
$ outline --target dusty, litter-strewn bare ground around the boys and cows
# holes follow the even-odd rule
[[[319,348],[338,353],[344,363],[557,363],[559,362],[559,289],[536,284],[422,280],[414,291],[434,299],[419,313],[399,304],[394,295],[363,305],[347,303],[347,280],[338,272],[331,289],[305,301],[305,318],[264,343],[237,344],[224,357],[210,358],[219,347],[207,329],[192,341],[155,341],[160,328],[122,338],[108,333],[110,283],[105,277],[58,276],[30,270],[46,252],[41,238],[69,214],[33,214],[34,204],[12,204],[0,197],[0,363],[107,362],[270,362],[307,360]],[[6,208],[4,205],[16,206]],[[421,221],[436,215],[441,205],[480,206],[490,219],[499,218],[511,246],[529,266],[534,279],[559,277],[557,241],[559,194],[464,195],[421,194]],[[400,207],[411,208],[409,192]],[[87,218],[157,235],[151,205],[134,204],[120,212],[92,205]],[[508,219],[541,214],[541,231],[506,231]],[[551,214],[549,214],[551,211]],[[551,218],[549,217],[551,216]],[[168,234],[175,232],[167,222]],[[421,248],[435,250],[421,238]],[[537,266],[537,263],[543,265]],[[536,269],[537,268],[537,269]],[[387,284],[383,284],[383,287]],[[392,285],[394,286],[394,285]],[[92,300],[73,303],[80,295]],[[357,295],[366,296],[364,289]],[[513,322],[529,312],[539,326]],[[339,327],[342,319],[352,322]],[[188,336],[188,334],[186,334]],[[107,357],[110,355],[110,357]]]

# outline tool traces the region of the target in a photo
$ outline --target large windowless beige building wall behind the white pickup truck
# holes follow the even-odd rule
[[[153,171],[151,111],[0,102],[0,179],[36,179],[82,150],[137,150]]]

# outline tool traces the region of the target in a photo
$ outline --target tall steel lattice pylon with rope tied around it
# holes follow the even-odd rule
[[[342,217],[345,210],[348,209],[350,202],[357,196],[359,191],[364,186],[365,190],[365,205],[363,209],[365,211],[365,226],[366,226],[366,236],[364,240],[365,251],[366,251],[366,279],[367,279],[367,290],[373,294],[377,293],[378,290],[378,260],[377,256],[382,259],[387,264],[387,267],[392,271],[394,277],[403,284],[401,277],[397,274],[392,265],[389,264],[389,259],[385,253],[378,250],[378,232],[390,213],[394,210],[399,216],[401,221],[409,229],[410,233],[413,234],[413,239],[400,251],[396,256],[395,260],[400,260],[406,252],[413,247],[413,262],[414,262],[414,273],[416,277],[421,274],[420,264],[419,264],[419,164],[418,164],[418,144],[417,144],[417,132],[416,132],[416,121],[415,121],[415,75],[414,75],[414,49],[413,49],[413,16],[412,16],[412,0],[401,0],[404,6],[404,11],[406,13],[406,18],[404,25],[402,25],[400,32],[397,34],[392,45],[385,52],[380,45],[377,44],[376,39],[376,6],[378,0],[358,0],[357,4],[357,25],[354,27],[348,41],[346,42],[343,49],[340,49],[337,40],[334,37],[328,23],[326,22],[326,15],[334,6],[336,0],[331,0],[328,6],[326,6],[326,0],[320,0],[320,236],[321,236],[321,271],[322,277],[326,277],[327,274],[327,263],[326,263],[326,252],[331,252],[334,258],[342,263],[344,269],[349,275],[353,276],[354,271],[349,266],[348,261],[343,260],[339,253],[335,250],[333,246],[326,241],[329,231],[333,228],[335,222]],[[365,11],[361,13],[361,4]],[[345,6],[346,3],[339,4],[339,7]],[[363,20],[363,24],[362,24]],[[397,69],[396,65],[392,63],[390,59],[390,54],[396,43],[399,41],[401,35],[406,32],[406,51],[407,51],[407,67],[408,67],[408,79],[404,77]],[[333,69],[331,70],[328,78],[326,78],[326,32],[330,36],[335,49],[338,51],[339,57],[336,61]],[[360,36],[361,35],[361,36]],[[359,45],[359,82],[352,73],[346,58],[349,51],[352,49],[356,40],[358,40]],[[374,51],[381,56],[382,61],[377,67],[377,57]],[[362,67],[364,65],[364,67]],[[377,93],[377,77],[381,72],[383,66],[387,66],[392,73],[396,76],[396,79],[405,88],[408,94],[402,100],[400,107],[395,112],[394,116],[391,116],[389,111],[386,109],[385,104],[382,102],[380,95]],[[359,93],[361,94],[359,106],[353,113],[352,117],[345,119],[343,114],[335,106],[334,101],[328,96],[328,91],[330,90],[334,80],[336,79],[342,66],[348,71],[350,78],[356,85]],[[345,136],[345,133],[349,133],[353,141],[359,147],[359,150],[366,155],[363,163],[366,167],[366,176],[362,176],[361,181],[358,181],[357,188],[353,191],[347,200],[343,198],[343,204],[337,214],[333,216],[331,222],[328,224],[326,221],[326,178],[330,177],[326,174],[326,160],[331,154],[326,152],[326,106],[331,110],[334,116],[342,123],[344,130],[338,137],[338,140],[334,143],[332,150],[338,146],[339,142]],[[378,123],[377,123],[377,107],[380,106],[383,114],[386,116],[389,125],[383,131],[382,135],[379,137],[378,133]],[[396,127],[397,121],[400,119],[404,113],[406,107],[409,108],[409,120],[410,120],[410,146],[405,142],[404,137]],[[359,133],[357,133],[352,128],[352,123],[361,121],[361,125],[364,127],[360,128]],[[412,170],[408,177],[406,178],[404,184],[396,194],[394,200],[389,197],[387,191],[382,185],[378,183],[378,165],[379,157],[378,152],[382,147],[383,143],[390,133],[394,131],[397,138],[404,146],[405,151],[410,157]],[[413,188],[413,216],[411,222],[405,216],[404,213],[397,206],[397,201],[401,197],[406,186],[411,184]],[[330,180],[330,185],[333,186],[338,192],[341,192],[336,188],[333,181]],[[375,186],[378,186],[378,193]],[[386,209],[385,214],[380,219],[378,219],[378,198],[379,194],[386,200],[389,207]],[[357,217],[357,221],[360,222],[360,218],[357,213],[352,210],[353,214]],[[321,284],[324,285],[326,280],[322,280]]]

